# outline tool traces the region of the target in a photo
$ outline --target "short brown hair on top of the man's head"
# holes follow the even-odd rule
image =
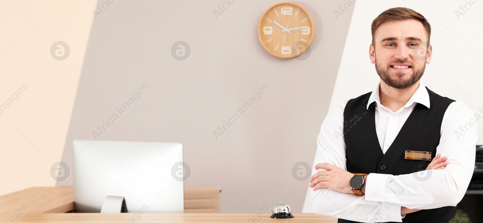
[[[372,25],[370,26],[370,31],[372,33],[372,46],[375,47],[374,35],[376,34],[376,29],[379,28],[379,26],[388,21],[400,21],[406,19],[416,19],[423,24],[423,27],[426,29],[427,34],[426,46],[429,46],[431,26],[427,22],[426,18],[422,14],[419,14],[412,9],[403,7],[388,9],[383,13],[379,14],[377,18],[372,21]]]

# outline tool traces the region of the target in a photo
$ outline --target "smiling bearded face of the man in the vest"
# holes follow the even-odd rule
[[[415,19],[389,21],[377,28],[369,57],[387,85],[405,89],[421,79],[431,60],[426,29]]]

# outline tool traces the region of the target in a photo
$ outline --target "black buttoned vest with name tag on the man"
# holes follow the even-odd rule
[[[383,153],[376,134],[376,102],[372,102],[369,109],[366,109],[371,92],[347,102],[344,109],[347,171],[400,175],[426,169],[431,161],[404,159],[404,151],[428,151],[431,152],[432,160],[440,143],[443,115],[448,106],[455,101],[441,97],[427,87],[426,90],[429,94],[430,108],[416,104],[386,153]],[[456,207],[453,206],[423,209],[406,214],[402,222],[448,222],[455,214]],[[351,221],[339,219],[338,222]]]

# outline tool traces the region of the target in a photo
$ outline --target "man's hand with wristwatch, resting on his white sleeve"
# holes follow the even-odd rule
[[[314,168],[326,169],[315,173],[310,179],[310,187],[313,187],[314,191],[320,188],[329,188],[345,194],[354,194],[349,185],[351,178],[354,176],[353,173],[328,163],[319,163]]]

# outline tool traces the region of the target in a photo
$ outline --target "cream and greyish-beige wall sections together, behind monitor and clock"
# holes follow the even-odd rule
[[[218,19],[222,0],[114,1],[97,19],[97,2],[2,3],[2,27],[14,34],[2,33],[13,43],[1,52],[8,80],[0,95],[29,88],[0,116],[2,169],[16,169],[2,171],[11,183],[0,194],[54,185],[50,167],[72,168],[72,140],[95,139],[92,131],[146,83],[142,100],[99,140],[183,143],[192,170],[185,186],[222,186],[223,212],[256,212],[281,200],[300,212],[308,182],[294,179],[292,167],[313,162],[354,6],[338,19],[342,0],[295,1],[315,24],[312,56],[300,61],[270,56],[258,41],[260,10],[278,2],[237,0]],[[66,60],[50,56],[56,41],[69,43]],[[191,47],[185,61],[171,56],[177,41]],[[263,99],[217,140],[213,131],[266,83]]]

